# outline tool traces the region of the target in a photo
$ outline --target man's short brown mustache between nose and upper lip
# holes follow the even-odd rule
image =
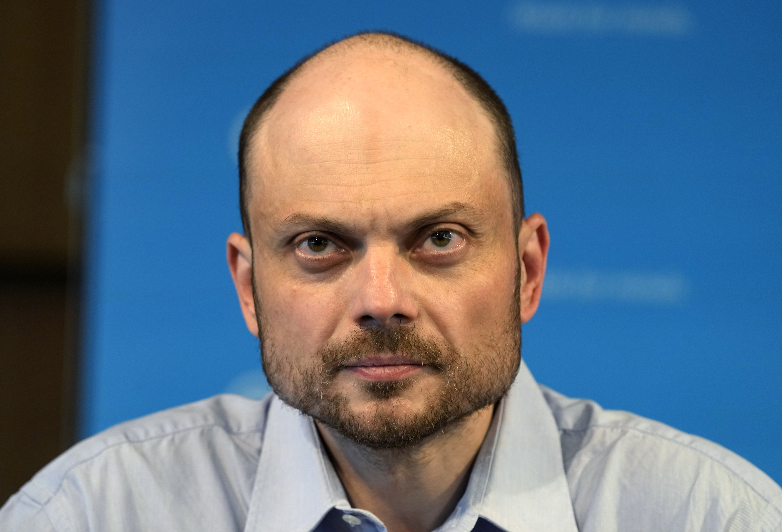
[[[334,376],[346,365],[378,354],[402,355],[413,363],[444,372],[450,368],[457,351],[450,346],[439,347],[434,340],[421,336],[414,325],[367,327],[351,333],[345,340],[328,343],[320,350],[328,376]]]

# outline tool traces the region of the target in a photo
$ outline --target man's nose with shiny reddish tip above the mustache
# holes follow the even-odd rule
[[[370,249],[357,264],[352,318],[360,327],[389,327],[412,322],[418,307],[404,257],[395,249]]]

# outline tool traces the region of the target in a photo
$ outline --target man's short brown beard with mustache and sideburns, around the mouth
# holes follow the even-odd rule
[[[508,322],[499,333],[493,331],[473,345],[469,354],[444,340],[437,342],[421,335],[414,325],[393,325],[359,329],[345,340],[326,343],[317,351],[314,364],[307,366],[296,361],[312,358],[289,356],[264,334],[253,282],[267,380],[286,404],[356,444],[371,449],[415,448],[426,438],[496,403],[513,383],[521,361],[518,274]],[[392,381],[360,380],[356,386],[369,399],[364,412],[354,412],[347,395],[336,389],[335,379],[347,365],[383,354],[403,355],[433,374],[437,383],[421,392],[423,407],[418,412],[409,408],[404,394],[416,385],[420,375]]]

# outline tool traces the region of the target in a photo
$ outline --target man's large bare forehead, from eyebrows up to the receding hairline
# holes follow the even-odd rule
[[[379,216],[508,194],[490,119],[420,54],[316,59],[267,114],[248,155],[251,219],[301,209]]]

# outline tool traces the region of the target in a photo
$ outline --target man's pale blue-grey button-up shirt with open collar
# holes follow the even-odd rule
[[[719,445],[538,386],[522,363],[437,530],[497,529],[779,532],[782,490]],[[77,444],[0,509],[0,530],[386,529],[350,506],[312,419],[220,395]]]

